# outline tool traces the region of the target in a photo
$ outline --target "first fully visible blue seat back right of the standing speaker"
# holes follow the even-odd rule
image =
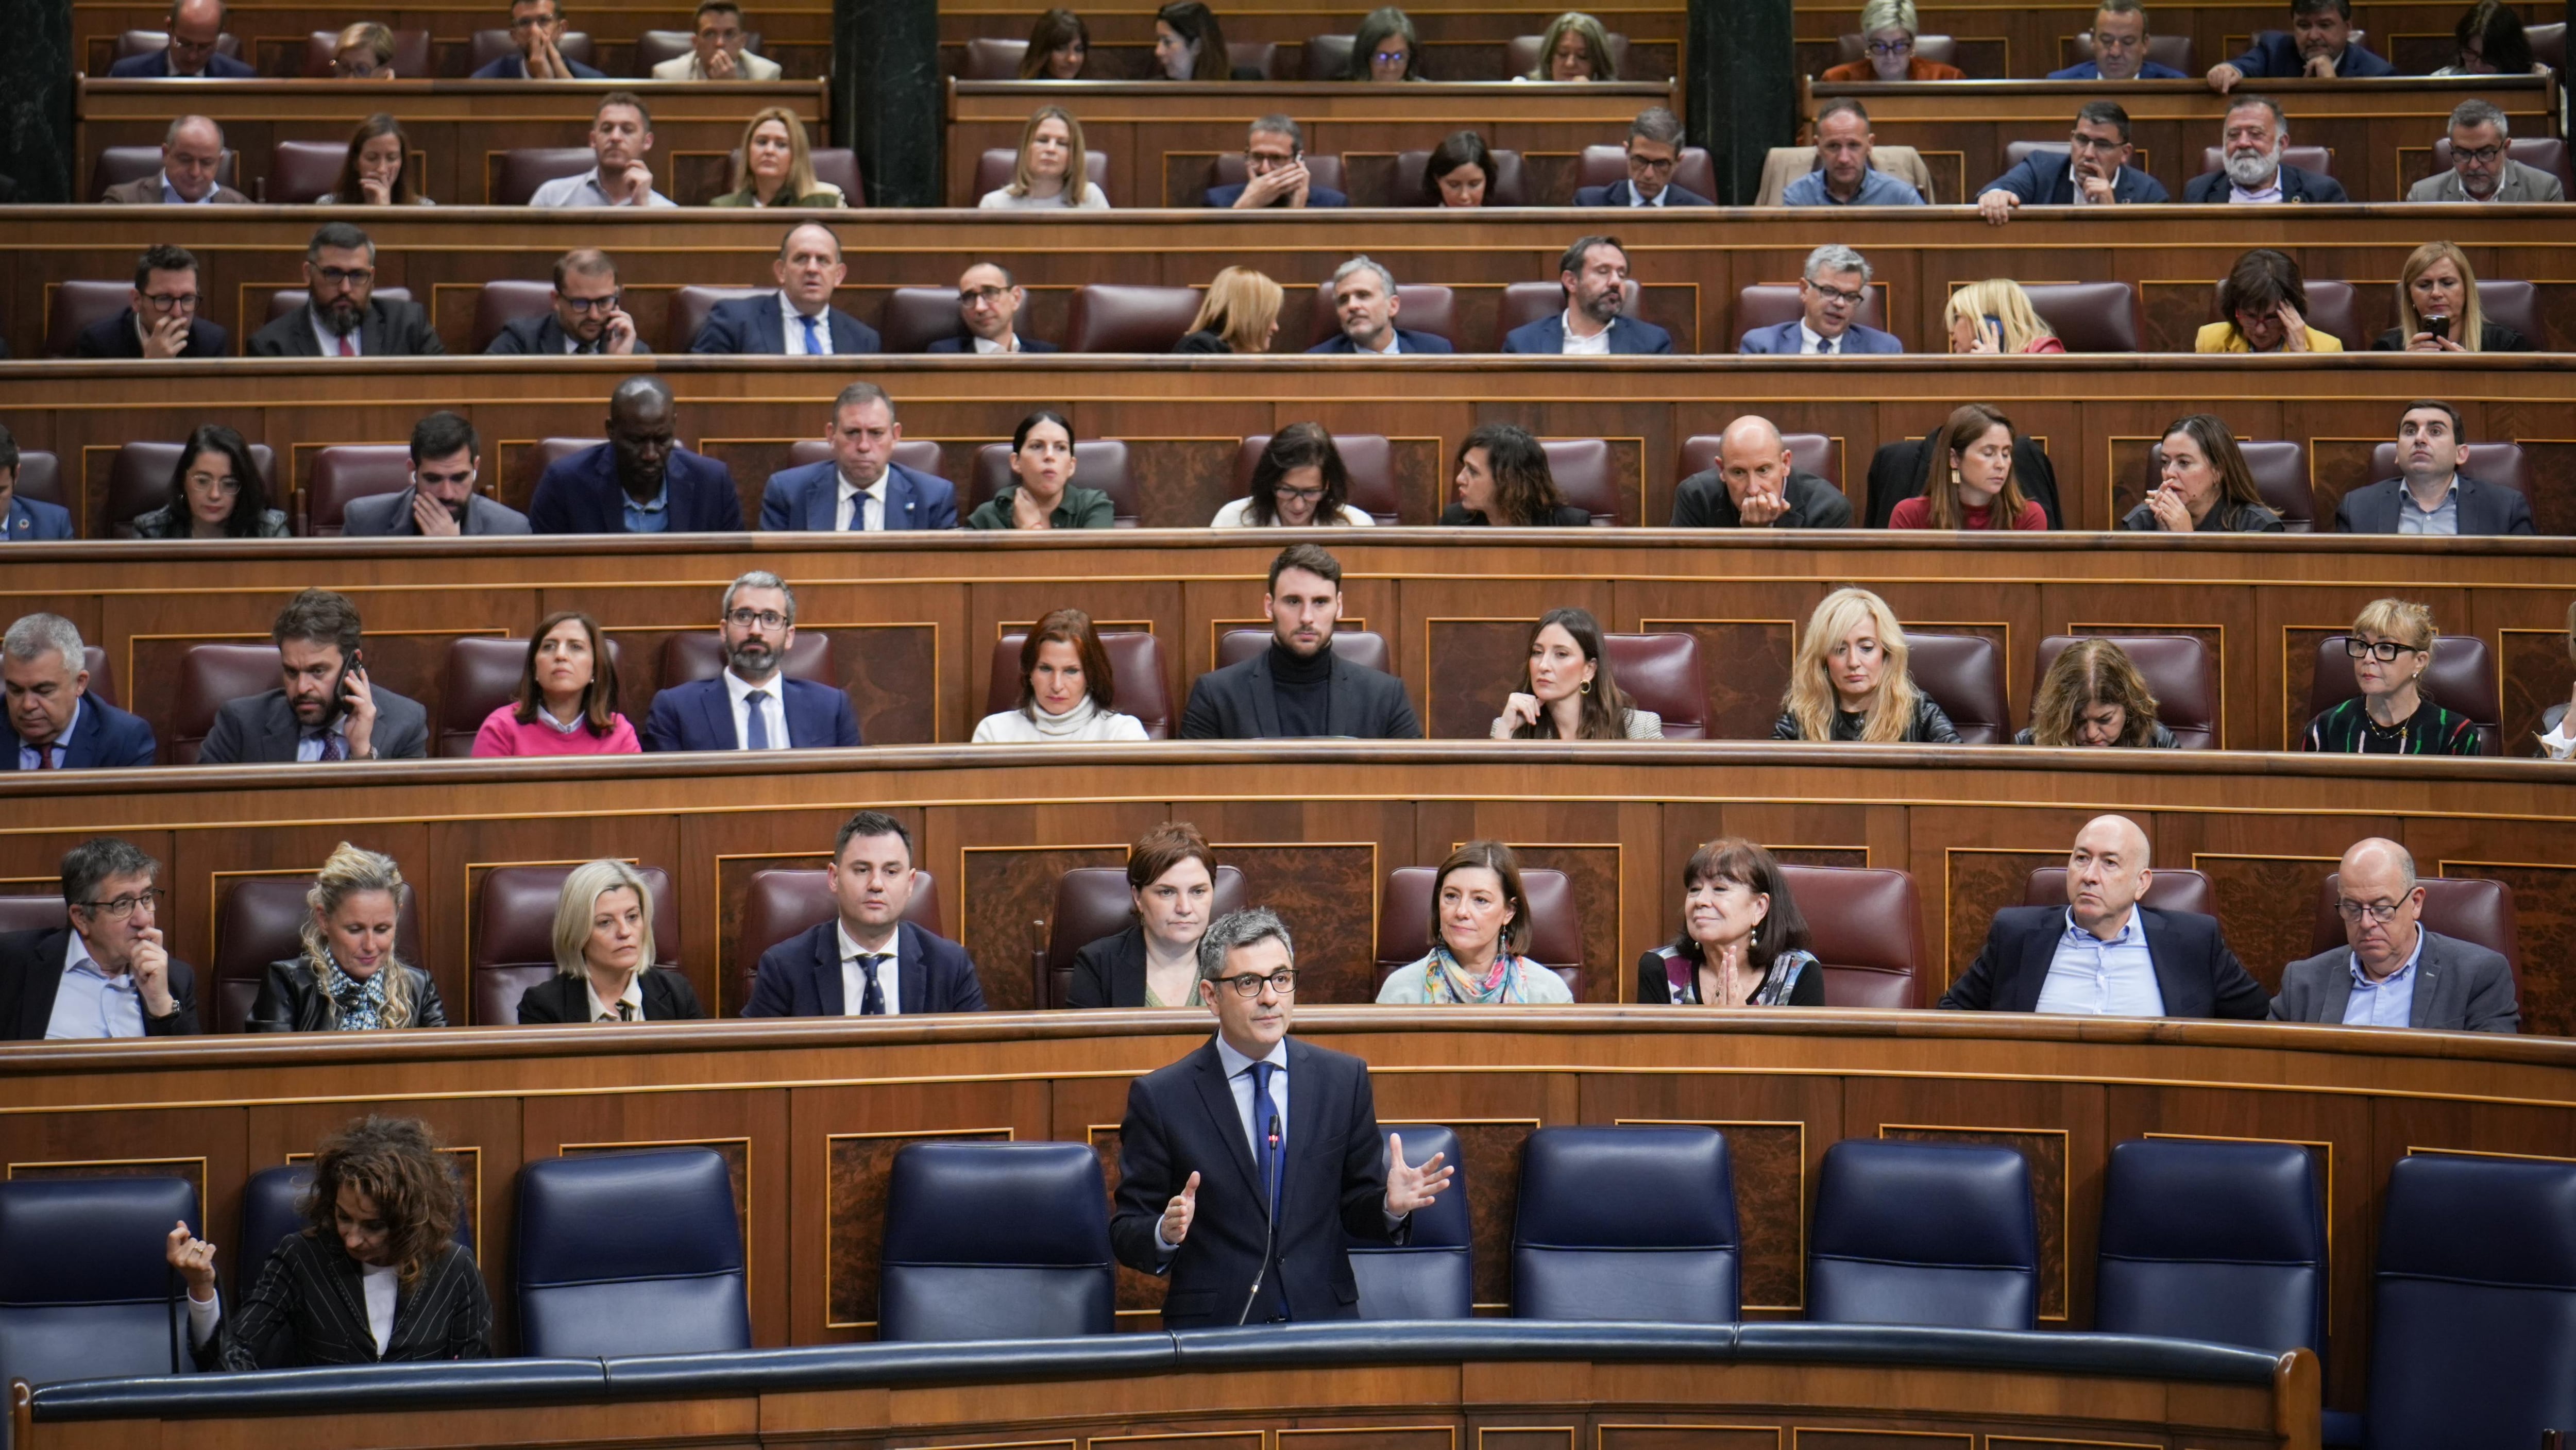
[[[1517,1319],[1731,1324],[1739,1249],[1716,1128],[1538,1128],[1520,1154]]]

